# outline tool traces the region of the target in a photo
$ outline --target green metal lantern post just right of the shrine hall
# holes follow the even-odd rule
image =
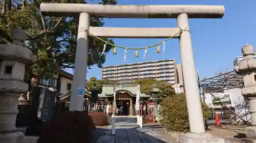
[[[160,90],[156,87],[156,85],[153,85],[153,88],[150,93],[152,93],[152,102],[154,103],[154,115],[157,121],[160,117],[158,113],[158,107],[157,107],[157,104],[159,102],[158,93],[160,93]]]

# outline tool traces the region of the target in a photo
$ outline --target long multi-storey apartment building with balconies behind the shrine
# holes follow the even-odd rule
[[[178,69],[176,67],[174,59],[104,66],[102,68],[102,79],[129,83],[136,79],[154,78],[170,84],[178,84],[182,81],[180,84],[183,85],[181,65]]]

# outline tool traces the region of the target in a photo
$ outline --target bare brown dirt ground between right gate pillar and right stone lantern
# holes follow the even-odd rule
[[[222,125],[221,127],[209,126],[208,133],[216,137],[246,137],[245,127],[247,126],[233,126],[233,125]]]

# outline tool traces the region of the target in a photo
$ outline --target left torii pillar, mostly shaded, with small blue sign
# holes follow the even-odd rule
[[[90,26],[90,16],[88,13],[80,13],[77,45],[76,45],[76,59],[74,67],[74,76],[72,82],[72,90],[70,97],[69,110],[82,111],[84,102],[84,88],[86,85],[87,61],[88,61],[88,33]]]

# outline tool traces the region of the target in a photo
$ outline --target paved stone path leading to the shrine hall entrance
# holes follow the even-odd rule
[[[99,137],[97,143],[167,143],[161,135],[151,129],[143,129],[140,132],[135,117],[116,117],[115,121],[116,135],[112,135],[109,129],[104,136]]]

